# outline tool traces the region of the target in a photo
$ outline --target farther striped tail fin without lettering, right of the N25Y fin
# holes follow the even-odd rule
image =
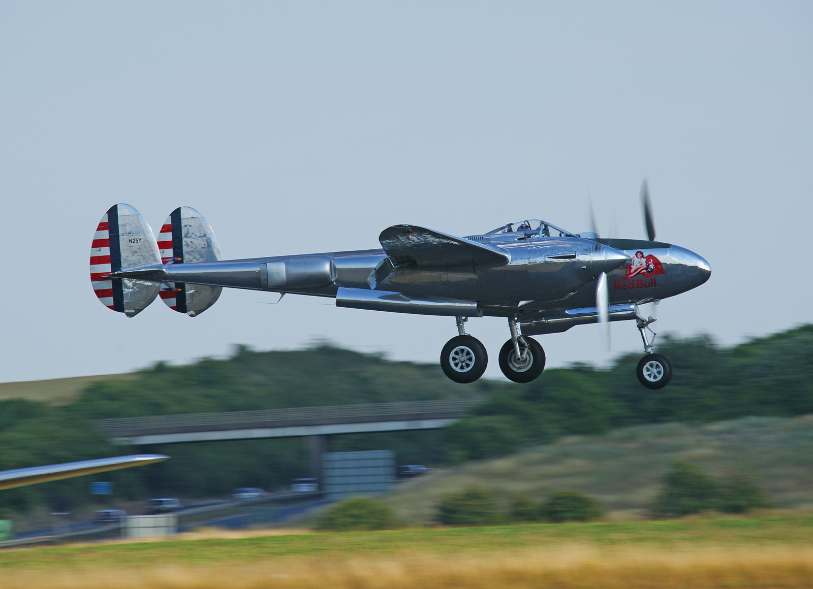
[[[189,264],[220,260],[220,245],[209,223],[189,206],[179,206],[169,214],[158,236],[164,264]],[[179,313],[195,317],[215,304],[223,288],[202,284],[167,282],[161,288],[161,300]]]

